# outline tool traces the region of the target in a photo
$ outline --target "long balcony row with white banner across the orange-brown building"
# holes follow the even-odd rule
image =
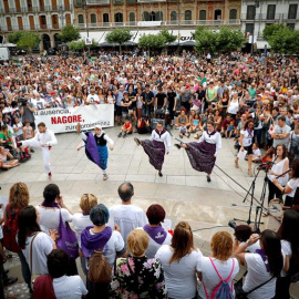
[[[219,25],[240,25],[240,20],[173,20],[173,21],[155,21],[155,22],[101,22],[101,23],[85,23],[75,24],[75,27],[80,29],[86,28],[115,28],[115,27],[167,27],[167,25],[210,25],[210,27],[219,27]]]

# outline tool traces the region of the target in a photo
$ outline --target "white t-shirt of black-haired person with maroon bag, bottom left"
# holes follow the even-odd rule
[[[53,288],[56,299],[81,299],[87,290],[82,278],[75,276],[62,276],[53,279]]]

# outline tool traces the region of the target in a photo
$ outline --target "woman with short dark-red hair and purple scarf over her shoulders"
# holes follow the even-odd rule
[[[173,236],[161,225],[165,219],[165,209],[161,205],[151,205],[147,208],[146,216],[150,224],[141,227],[150,237],[145,255],[147,258],[154,258],[162,245],[172,243]]]

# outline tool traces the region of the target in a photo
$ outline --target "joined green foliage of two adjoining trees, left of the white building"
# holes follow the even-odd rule
[[[246,42],[245,34],[240,30],[229,27],[220,27],[218,31],[199,27],[193,38],[198,53],[236,51]]]

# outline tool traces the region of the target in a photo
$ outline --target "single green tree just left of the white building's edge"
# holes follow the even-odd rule
[[[245,34],[238,29],[220,27],[219,32],[215,32],[215,34],[218,52],[236,51],[246,43]]]

